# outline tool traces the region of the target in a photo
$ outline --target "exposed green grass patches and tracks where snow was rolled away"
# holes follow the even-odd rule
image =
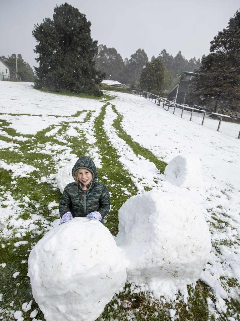
[[[131,195],[137,193],[136,187],[133,185],[131,176],[123,168],[122,164],[118,161],[119,156],[117,155],[116,149],[111,145],[108,140],[108,137],[103,129],[103,119],[106,112],[106,106],[111,103],[110,97],[108,101],[103,106],[101,113],[96,117],[94,126],[95,126],[95,138],[97,139],[97,147],[99,153],[102,157],[102,169],[99,169],[99,178],[100,181],[105,183],[108,186],[109,191],[111,192],[112,208],[110,213],[107,216],[104,224],[108,227],[113,235],[117,234],[118,230],[118,210],[121,205],[129,197],[124,194],[121,190],[122,187],[126,188]],[[153,163],[156,164],[158,169],[164,171],[165,165],[161,160],[157,159],[152,152],[140,146],[138,143],[132,141],[132,138],[124,132],[121,121],[122,115],[116,111],[116,108],[113,106],[113,110],[117,114],[117,119],[114,121],[114,126],[117,130],[117,133],[120,138],[133,149],[136,155],[140,154],[145,158],[148,158]],[[91,116],[91,111],[88,112],[84,121],[87,121]],[[76,113],[73,116],[79,116],[79,113]],[[1,117],[0,117],[1,119]],[[6,128],[9,124],[2,120],[0,123],[0,128],[3,129],[11,136],[19,136],[19,134],[11,129]],[[68,128],[68,123],[61,124],[61,135],[64,134]],[[28,165],[32,165],[39,169],[39,171],[34,171],[32,175],[26,178],[15,178],[16,184],[11,184],[11,172],[1,169],[1,181],[2,187],[0,192],[0,199],[4,201],[6,195],[5,192],[11,192],[14,195],[14,199],[19,203],[20,213],[19,217],[23,219],[28,219],[31,214],[40,213],[43,216],[43,219],[51,225],[51,222],[58,218],[58,216],[50,214],[51,211],[48,209],[50,202],[55,201],[59,203],[61,194],[58,188],[53,188],[51,183],[38,183],[37,181],[42,176],[49,176],[52,173],[56,172],[55,166],[58,162],[57,153],[54,154],[54,151],[50,154],[45,154],[42,152],[46,143],[58,144],[61,146],[66,146],[65,142],[61,142],[61,139],[56,136],[46,137],[45,133],[51,130],[54,126],[50,126],[36,135],[25,135],[29,140],[26,142],[14,141],[18,143],[20,148],[16,148],[12,151],[9,149],[0,150],[0,160],[5,160],[7,163],[18,163],[23,161]],[[59,133],[60,134],[60,133]],[[60,136],[61,137],[61,136]],[[87,144],[84,137],[84,132],[79,130],[79,137],[70,137],[64,136],[64,139],[68,141],[67,145],[71,147],[72,153],[78,152],[78,155],[84,155],[87,153]],[[1,140],[6,142],[12,142],[11,138],[1,136]],[[29,153],[29,151],[33,151]],[[102,176],[108,177],[109,181],[102,180]],[[28,195],[28,198],[31,200],[30,204],[26,204],[23,200],[23,197]],[[4,205],[2,205],[4,206]],[[38,209],[36,209],[38,208]],[[54,207],[53,207],[54,209]],[[3,293],[2,308],[4,308],[3,316],[6,320],[14,320],[14,317],[11,317],[7,311],[16,311],[21,310],[21,305],[24,302],[29,302],[32,298],[30,282],[27,277],[27,263],[21,263],[22,260],[28,259],[28,254],[31,247],[36,243],[46,232],[46,224],[42,224],[42,221],[38,222],[39,225],[39,234],[37,233],[26,233],[26,236],[23,236],[21,239],[15,238],[13,233],[12,239],[1,239],[0,244],[4,244],[5,247],[0,247],[1,253],[1,262],[6,263],[6,267],[2,268],[0,266],[0,292]],[[218,222],[216,221],[216,226],[218,227]],[[11,227],[9,227],[11,229]],[[28,244],[21,245],[20,247],[15,247],[14,243],[20,240],[28,241]],[[16,250],[15,250],[16,249]],[[20,277],[15,279],[12,277],[13,273],[16,271],[20,272]],[[236,280],[227,280],[226,282],[236,282]],[[149,296],[148,293],[132,293],[134,287],[130,284],[126,284],[125,291],[116,295],[114,299],[105,307],[104,312],[99,317],[98,320],[169,320],[169,308],[175,308],[177,314],[180,317],[180,320],[208,320],[209,318],[214,320],[213,316],[209,315],[209,311],[206,305],[206,297],[214,297],[211,295],[211,289],[206,286],[203,282],[197,282],[196,289],[189,287],[189,301],[188,307],[186,304],[174,303],[174,304],[164,304],[162,301],[154,300]],[[132,293],[132,294],[131,294]],[[131,308],[124,308],[121,304],[123,300],[128,300],[131,302]],[[30,312],[38,308],[36,303],[33,302],[32,309],[23,314],[23,317],[26,321],[30,321],[31,318]],[[237,301],[232,301],[229,304],[229,308],[232,308],[233,311],[239,311],[239,303]],[[38,319],[44,320],[44,317],[39,310]],[[222,314],[220,320],[226,320],[226,316]]]

